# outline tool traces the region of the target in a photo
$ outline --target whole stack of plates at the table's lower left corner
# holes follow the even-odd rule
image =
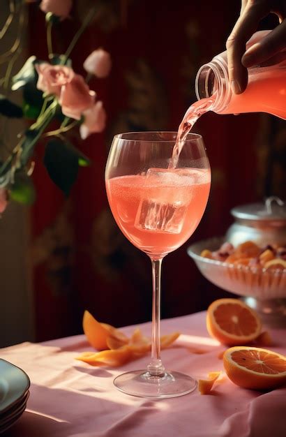
[[[0,359],[0,434],[24,413],[29,387],[29,377],[22,369]]]

